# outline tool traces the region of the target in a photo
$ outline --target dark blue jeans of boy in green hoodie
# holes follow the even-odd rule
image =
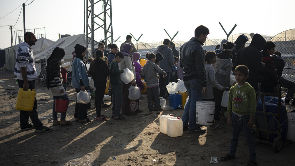
[[[246,137],[247,144],[249,146],[249,159],[255,160],[255,141],[252,133],[252,128],[249,128],[248,121],[250,115],[238,116],[232,113],[232,139],[230,140],[230,155],[235,156],[238,146],[238,139],[240,132],[243,131]]]

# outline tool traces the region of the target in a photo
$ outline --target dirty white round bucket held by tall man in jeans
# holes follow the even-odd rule
[[[214,109],[214,101],[196,101],[196,122],[200,125],[212,125]]]

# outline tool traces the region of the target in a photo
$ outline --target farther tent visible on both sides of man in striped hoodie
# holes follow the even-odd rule
[[[40,38],[37,39],[37,42],[35,45],[32,45],[32,49],[35,53],[38,53],[48,46],[50,46],[54,41],[46,39],[46,38]],[[14,71],[15,66],[15,53],[17,52],[18,46],[14,45],[8,48],[5,48],[5,64],[6,69]]]

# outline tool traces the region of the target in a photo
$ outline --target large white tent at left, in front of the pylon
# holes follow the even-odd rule
[[[48,48],[46,48],[42,51],[39,51],[37,53],[34,53],[34,60],[39,61],[40,59],[47,59],[51,55],[54,48],[60,47],[65,50],[64,59],[69,61],[70,63],[72,63],[72,58],[73,58],[72,52],[75,51],[75,48],[74,48],[75,45],[76,44],[83,45],[83,43],[84,43],[84,45],[87,44],[86,43],[86,35],[84,35],[84,34],[60,38],[60,39],[56,40],[56,42],[51,44]],[[97,42],[95,41],[94,44],[96,44],[96,43]],[[91,42],[89,43],[88,46],[91,46]],[[87,51],[88,51],[88,57],[90,57],[91,56],[91,48],[87,48]]]

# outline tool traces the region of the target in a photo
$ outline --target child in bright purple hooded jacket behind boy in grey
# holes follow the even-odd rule
[[[135,74],[136,74],[136,85],[137,87],[139,87],[140,91],[142,91],[143,89],[145,89],[145,85],[142,83],[141,81],[141,77],[140,77],[140,71],[142,70],[142,66],[140,65],[140,63],[138,62],[140,58],[140,53],[135,52],[133,53],[133,57],[132,57],[132,61],[134,62],[135,65]],[[142,110],[139,109],[139,99],[137,100],[138,103],[138,112],[142,112]]]

